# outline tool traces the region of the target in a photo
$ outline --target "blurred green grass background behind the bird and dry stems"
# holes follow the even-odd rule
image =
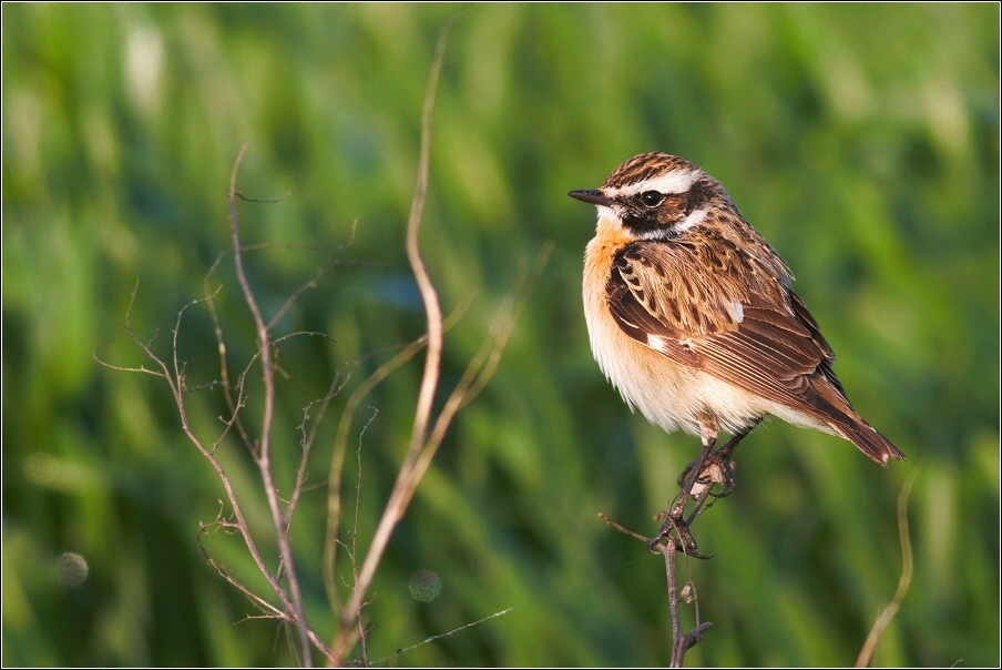
[[[846,664],[901,570],[916,575],[877,664],[998,666],[999,7],[9,4],[3,31],[4,664],[272,666],[286,631],[206,565],[196,535],[223,493],[187,443],[133,323],[168,353],[177,311],[219,254],[233,365],[254,349],[227,254],[242,205],[267,313],[340,260],[279,328],[278,471],[303,408],[366,354],[335,402],[294,548],[307,610],[320,578],[330,438],[347,394],[423,329],[403,254],[420,108],[452,27],[434,111],[422,244],[447,312],[450,388],[546,241],[555,251],[495,378],[450,430],[396,531],[367,609],[370,658],[505,608],[390,664],[665,664],[664,564],[601,522],[652,516],[697,448],[628,413],[592,361],[581,258],[594,211],[569,199],[645,151],[719,179],[784,255],[857,408],[908,455],[875,466],[838,438],[769,422],[737,454],[738,488],[698,524],[693,566],[709,666]],[[351,237],[354,243],[336,250]],[[211,321],[180,336],[188,384],[218,378]],[[367,399],[359,542],[409,434],[422,359]],[[259,390],[255,389],[257,397]],[[187,396],[201,435],[218,390]],[[250,412],[255,410],[252,405]],[[269,557],[242,447],[219,448]],[[346,485],[354,491],[357,464]],[[350,498],[349,498],[350,505]],[[224,510],[225,511],[225,510]],[[213,556],[266,592],[237,538]],[[79,555],[88,566],[62,558]],[[75,560],[75,559],[74,559]],[[275,565],[269,558],[270,565]],[[78,570],[72,568],[76,566]],[[342,561],[342,567],[345,562]],[[441,591],[412,597],[419,570]],[[345,575],[347,577],[347,573]],[[75,585],[75,586],[73,586]],[[293,644],[295,646],[295,644]]]

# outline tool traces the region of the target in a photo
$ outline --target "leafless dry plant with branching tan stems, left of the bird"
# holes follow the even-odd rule
[[[94,359],[105,367],[122,372],[149,374],[156,377],[162,377],[166,380],[177,407],[177,413],[182,424],[182,430],[184,432],[188,440],[195,445],[202,456],[216,471],[216,475],[218,476],[223,489],[226,494],[226,500],[228,501],[229,508],[232,509],[232,516],[229,518],[224,519],[222,517],[221,509],[219,516],[215,521],[207,525],[202,525],[200,529],[198,544],[200,547],[202,547],[206,561],[219,573],[219,576],[225,581],[233,585],[237,590],[244,593],[248,598],[248,600],[258,610],[260,610],[260,615],[248,615],[246,619],[278,619],[283,621],[284,626],[292,626],[297,630],[299,644],[297,646],[297,648],[292,649],[292,651],[294,653],[294,657],[301,659],[301,662],[305,666],[311,666],[313,663],[311,646],[318,649],[326,657],[326,660],[329,664],[337,666],[342,661],[342,659],[359,640],[362,643],[362,660],[367,661],[367,631],[362,619],[362,610],[368,602],[366,600],[366,595],[371,587],[372,579],[386,551],[390,536],[392,535],[392,531],[396,528],[397,524],[400,521],[400,519],[402,519],[405,511],[413,497],[415,490],[417,489],[419,483],[430,467],[431,460],[442,440],[444,439],[446,433],[457,413],[484,388],[488,380],[497,369],[501,354],[511,335],[518,314],[524,307],[528,300],[529,291],[525,288],[525,286],[531,285],[534,280],[538,278],[538,275],[543,264],[545,263],[546,256],[549,255],[551,248],[551,245],[544,246],[543,251],[540,253],[539,258],[536,260],[534,267],[531,271],[525,267],[522,268],[514,287],[509,293],[497,317],[494,318],[481,348],[469,363],[466,372],[461,376],[451,395],[446,400],[438,416],[434,418],[434,420],[432,420],[432,405],[440,380],[443,335],[446,331],[448,331],[449,327],[451,327],[451,325],[453,325],[456,321],[459,319],[462,313],[467,311],[470,305],[470,301],[472,300],[471,296],[470,300],[464,301],[463,304],[461,304],[460,307],[458,307],[456,312],[449,317],[449,319],[442,318],[442,309],[439,303],[438,293],[425,265],[419,244],[421,216],[428,191],[431,151],[431,112],[434,105],[436,89],[442,68],[447,29],[448,26],[441,32],[431,72],[429,74],[428,89],[425,97],[421,116],[421,151],[418,164],[417,183],[415,195],[411,201],[411,210],[407,225],[407,256],[410,262],[410,266],[425,305],[427,334],[405,346],[399,353],[397,353],[390,361],[382,364],[365,383],[360,385],[360,387],[349,398],[341,416],[340,424],[338,426],[327,483],[328,521],[324,557],[325,585],[327,587],[331,606],[335,610],[335,613],[337,615],[337,631],[335,632],[334,644],[331,648],[328,648],[324,643],[323,639],[314,630],[311,630],[307,623],[304,611],[301,589],[299,579],[296,573],[296,564],[293,556],[289,529],[298,501],[303,491],[305,490],[307,465],[313,450],[313,446],[318,435],[318,426],[324,419],[331,399],[338,395],[338,393],[347,383],[349,372],[347,369],[338,372],[331,379],[327,394],[323,398],[315,400],[304,409],[303,423],[299,426],[299,430],[303,435],[303,438],[300,440],[301,455],[299,457],[299,464],[296,470],[296,478],[293,485],[292,494],[288,495],[287,500],[283,499],[283,496],[279,495],[278,486],[275,481],[272,463],[272,432],[275,420],[276,407],[275,374],[279,373],[285,375],[285,373],[279,368],[277,364],[277,345],[285,338],[296,335],[317,335],[324,337],[327,337],[327,335],[324,333],[299,332],[293,333],[292,335],[286,335],[284,337],[273,338],[272,331],[274,329],[275,325],[288,314],[296,301],[307,290],[315,287],[320,276],[323,276],[334,265],[338,264],[339,261],[331,262],[317,271],[314,277],[305,282],[288,297],[288,300],[286,300],[286,302],[278,308],[278,311],[272,316],[270,319],[265,319],[258,300],[250,286],[250,282],[248,281],[248,276],[244,267],[244,253],[252,250],[270,246],[270,243],[263,245],[243,245],[241,243],[239,222],[236,206],[237,199],[258,202],[245,197],[236,189],[236,177],[246,153],[246,144],[241,148],[239,154],[234,162],[233,171],[231,173],[227,197],[228,221],[231,227],[231,242],[235,274],[241,286],[244,302],[246,303],[254,322],[256,348],[250,356],[246,367],[242,372],[239,372],[235,379],[232,377],[229,364],[227,361],[227,349],[224,339],[223,327],[221,325],[219,314],[215,304],[222,286],[216,286],[215,288],[213,288],[209,284],[213,275],[219,266],[223,257],[222,255],[215,261],[205,277],[204,297],[194,301],[188,305],[185,305],[177,313],[177,318],[172,331],[172,352],[171,356],[167,358],[167,361],[170,361],[170,364],[153,352],[152,346],[153,342],[155,341],[155,336],[151,338],[150,342],[143,342],[136,335],[132,326],[132,309],[135,304],[135,298],[139,291],[139,281],[136,281],[135,287],[132,291],[129,308],[125,313],[125,331],[132,338],[133,343],[143,352],[144,358],[152,363],[152,367],[146,367],[145,364],[141,364],[137,367],[113,365],[100,359],[98,357],[96,351],[93,355]],[[352,236],[354,230],[355,229],[352,226]],[[200,303],[206,304],[212,317],[214,335],[219,356],[219,378],[208,384],[188,387],[185,378],[185,364],[178,358],[178,337],[185,313],[190,307]],[[365,434],[365,430],[368,427],[369,423],[371,423],[372,418],[375,418],[375,412],[372,417],[370,417],[369,423],[366,424],[366,426],[361,429],[361,434],[359,435],[359,448],[357,451],[359,456],[359,473],[358,483],[356,485],[355,527],[351,531],[350,542],[346,544],[338,539],[338,529],[342,512],[340,499],[341,471],[344,469],[347,437],[351,429],[351,422],[360,406],[361,400],[366,397],[366,395],[371,392],[377,384],[382,382],[395,369],[409,361],[421,349],[427,349],[427,354],[421,384],[418,392],[410,440],[402,464],[400,466],[397,480],[390,493],[389,500],[387,501],[382,515],[379,519],[372,540],[365,554],[364,560],[359,562],[357,537],[358,508],[360,504],[361,490],[361,436]],[[361,359],[357,363],[360,362]],[[248,376],[250,375],[250,370],[256,365],[260,365],[260,382],[264,394],[263,408],[260,414],[260,426],[259,428],[252,430],[242,417],[242,412],[246,407],[248,400],[246,382],[248,379]],[[185,407],[185,395],[195,390],[204,390],[216,386],[221,387],[223,392],[228,415],[219,417],[219,420],[223,424],[223,429],[218,437],[212,443],[204,443],[194,434],[190,424],[187,408]],[[310,419],[310,413],[313,412],[314,407],[317,407],[316,416]],[[313,424],[308,427],[307,424],[310,420],[313,420]],[[268,501],[268,509],[270,512],[273,526],[275,528],[276,544],[278,547],[278,561],[275,570],[272,570],[265,562],[257,547],[257,544],[250,534],[249,527],[244,517],[239,500],[233,489],[232,483],[226,471],[223,469],[222,465],[216,458],[216,449],[219,447],[219,445],[223,444],[224,439],[232,432],[237,435],[239,441],[243,443],[244,447],[254,458],[254,461],[257,465],[258,470],[260,471],[260,480],[265,497]],[[255,432],[257,433],[256,436],[254,435]],[[227,569],[217,564],[209,556],[208,550],[204,546],[202,546],[202,535],[205,534],[209,528],[222,528],[223,531],[227,534],[239,534],[250,554],[252,559],[254,560],[255,566],[264,576],[272,590],[275,592],[275,596],[278,599],[277,603],[269,602],[265,598],[262,598],[259,595],[254,593],[249,588],[241,583]],[[350,596],[348,597],[347,602],[342,602],[338,595],[335,570],[335,559],[337,556],[338,547],[342,547],[347,551],[351,562],[351,575],[354,578],[354,583],[351,583],[349,587]],[[487,619],[501,616],[503,613],[507,613],[508,611],[510,610],[498,612],[495,615],[492,615],[491,617],[488,617]],[[456,630],[462,630],[463,628],[468,628],[469,626],[473,626],[478,622],[461,627]],[[451,631],[444,635],[452,635],[452,632],[456,631]],[[292,637],[289,637],[288,641],[290,646],[294,644]]]

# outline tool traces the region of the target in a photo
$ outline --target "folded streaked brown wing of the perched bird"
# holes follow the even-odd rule
[[[821,375],[842,395],[817,323],[775,272],[733,245],[630,244],[607,295],[627,335],[648,346],[660,337],[658,351],[678,363],[810,414],[843,413],[811,385]]]

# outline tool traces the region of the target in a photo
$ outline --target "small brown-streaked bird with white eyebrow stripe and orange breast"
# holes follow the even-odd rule
[[[767,415],[839,435],[881,465],[904,460],[852,409],[793,274],[693,163],[645,153],[599,190],[584,260],[592,352],[631,408],[672,432],[737,440]],[[732,441],[736,444],[735,438]]]

